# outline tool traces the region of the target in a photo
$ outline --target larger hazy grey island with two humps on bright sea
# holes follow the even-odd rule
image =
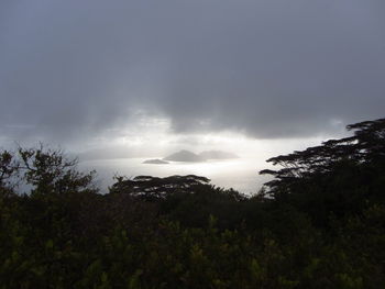
[[[222,152],[222,151],[205,151],[205,152],[201,152],[200,154],[195,154],[193,152],[183,149],[172,155],[168,155],[163,159],[169,160],[169,162],[199,163],[199,162],[206,162],[209,159],[232,159],[232,158],[239,158],[239,156],[235,154]]]

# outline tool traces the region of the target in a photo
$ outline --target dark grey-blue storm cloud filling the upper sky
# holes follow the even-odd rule
[[[0,2],[0,133],[307,136],[384,116],[382,0]]]

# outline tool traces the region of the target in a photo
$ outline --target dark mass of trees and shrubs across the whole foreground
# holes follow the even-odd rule
[[[260,193],[0,153],[0,288],[384,288],[385,119],[268,159]],[[26,190],[28,193],[22,193]]]

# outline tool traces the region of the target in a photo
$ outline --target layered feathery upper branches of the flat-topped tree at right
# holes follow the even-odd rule
[[[296,151],[267,159],[278,170],[264,169],[261,175],[272,175],[275,179],[265,185],[275,190],[287,189],[298,180],[314,178],[317,175],[331,174],[342,164],[384,166],[385,162],[385,119],[365,121],[346,126],[354,135],[341,140],[330,140],[320,146]]]

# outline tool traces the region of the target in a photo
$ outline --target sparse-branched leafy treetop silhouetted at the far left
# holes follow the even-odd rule
[[[0,187],[10,190],[24,182],[32,186],[32,193],[97,191],[95,171],[80,173],[77,164],[77,158],[43,144],[36,148],[19,147],[15,153],[3,151],[0,153]]]

